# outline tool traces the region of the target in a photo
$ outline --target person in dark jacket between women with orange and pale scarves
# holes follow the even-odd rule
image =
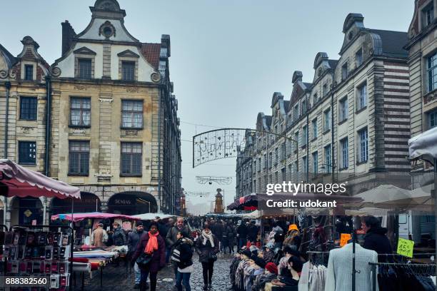
[[[176,262],[178,270],[176,273],[176,288],[182,291],[182,282],[184,282],[185,291],[191,291],[190,276],[194,270],[193,267],[193,241],[189,239],[189,233],[180,231],[177,235],[178,240],[174,245],[174,251],[171,259]]]

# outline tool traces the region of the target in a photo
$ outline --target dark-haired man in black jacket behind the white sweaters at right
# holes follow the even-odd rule
[[[381,228],[381,223],[374,216],[366,216],[361,223],[361,228],[366,231],[363,247],[374,250],[378,254],[391,254],[391,245],[388,240],[386,228]]]

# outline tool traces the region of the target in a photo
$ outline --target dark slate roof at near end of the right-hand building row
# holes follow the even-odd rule
[[[373,34],[381,36],[382,51],[386,56],[408,56],[408,51],[403,47],[408,43],[408,34],[403,31],[385,31],[370,29]]]

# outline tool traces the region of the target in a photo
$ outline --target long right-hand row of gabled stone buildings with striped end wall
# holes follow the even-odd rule
[[[343,34],[338,60],[317,53],[313,81],[295,71],[289,100],[274,93],[271,116],[258,113],[257,134],[238,153],[239,197],[284,180],[347,180],[354,195],[397,173],[408,187],[407,34],[368,29],[361,14],[348,14]]]

